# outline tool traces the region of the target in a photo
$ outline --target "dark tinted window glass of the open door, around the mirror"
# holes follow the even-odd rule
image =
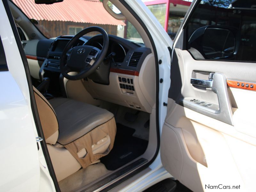
[[[237,45],[239,44],[239,46],[236,55],[231,60],[256,61],[256,1],[202,0],[190,18],[187,27],[188,39],[196,29],[209,25],[232,27],[238,31]],[[207,47],[215,47],[216,50],[221,48],[222,50],[228,49],[229,53],[234,51],[232,50],[234,48],[232,47],[234,36],[225,33],[217,36],[217,33],[217,30],[205,32],[204,44],[207,44]],[[206,39],[206,36],[208,39]],[[214,38],[211,38],[211,36]],[[206,49],[207,51],[209,50]],[[218,59],[218,55],[212,55],[210,59]],[[223,60],[223,57],[221,57],[221,60]]]

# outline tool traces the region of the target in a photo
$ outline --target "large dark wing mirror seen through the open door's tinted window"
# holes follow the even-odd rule
[[[238,29],[213,25],[198,28],[188,40],[190,47],[199,51],[204,59],[232,59],[239,42]]]

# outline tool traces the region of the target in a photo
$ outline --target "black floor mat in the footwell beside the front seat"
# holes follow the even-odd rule
[[[107,156],[100,158],[108,170],[116,170],[145,152],[148,141],[133,137],[134,132],[135,129],[116,124],[114,147]]]

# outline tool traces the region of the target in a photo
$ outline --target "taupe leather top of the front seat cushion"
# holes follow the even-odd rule
[[[56,98],[49,102],[59,122],[58,142],[62,145],[71,143],[114,117],[106,109],[72,99]]]

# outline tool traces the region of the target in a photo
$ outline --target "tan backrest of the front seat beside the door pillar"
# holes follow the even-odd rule
[[[33,90],[45,141],[54,145],[59,136],[59,124],[56,114],[51,104],[34,86]]]

